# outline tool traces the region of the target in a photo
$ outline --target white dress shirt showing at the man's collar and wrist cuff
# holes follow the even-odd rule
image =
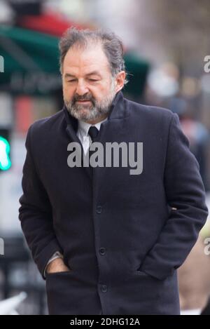
[[[90,135],[88,135],[89,128],[91,126],[95,126],[98,130],[100,130],[102,122],[104,122],[106,120],[107,120],[107,118],[98,123],[95,123],[94,125],[87,123],[85,121],[78,120],[78,130],[77,130],[76,135],[78,136],[81,144],[83,145],[83,152],[85,154],[87,154],[87,150],[89,149],[90,144],[91,144],[91,138],[90,138]],[[52,260],[56,260],[56,258],[60,258],[60,257],[63,258],[62,254],[59,253],[59,251],[57,251],[55,254],[52,255],[52,257],[48,261],[48,264],[50,264],[50,262],[52,262]],[[45,271],[46,271],[48,264],[45,267]],[[45,276],[45,271],[44,271],[44,276]]]

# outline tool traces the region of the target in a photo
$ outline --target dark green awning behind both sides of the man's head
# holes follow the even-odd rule
[[[12,93],[53,93],[62,88],[59,74],[59,38],[20,27],[0,27],[0,55],[4,73],[0,73],[1,90]],[[146,81],[149,63],[135,53],[125,54],[130,82],[125,91],[139,98]]]

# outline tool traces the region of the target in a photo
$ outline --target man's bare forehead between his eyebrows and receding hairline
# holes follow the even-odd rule
[[[73,46],[66,53],[63,64],[64,72],[88,74],[88,72],[109,72],[109,61],[102,45],[94,44],[85,49]]]

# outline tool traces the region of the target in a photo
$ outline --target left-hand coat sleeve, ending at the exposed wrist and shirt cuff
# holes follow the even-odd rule
[[[23,166],[19,219],[34,262],[44,277],[45,266],[52,255],[62,249],[52,225],[52,206],[48,194],[38,177],[30,145],[31,128],[27,133],[27,156]]]

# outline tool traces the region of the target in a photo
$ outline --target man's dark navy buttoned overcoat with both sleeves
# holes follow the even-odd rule
[[[179,314],[176,269],[207,220],[199,166],[167,109],[117,93],[97,141],[143,142],[143,171],[67,165],[77,121],[67,110],[27,134],[20,221],[43,275],[55,251],[69,272],[47,274],[50,314]]]

